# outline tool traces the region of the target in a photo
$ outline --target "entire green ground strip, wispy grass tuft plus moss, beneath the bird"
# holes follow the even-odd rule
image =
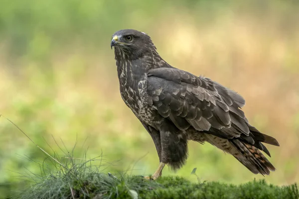
[[[57,157],[56,157],[57,158]],[[106,174],[100,166],[71,158],[50,159],[41,165],[41,174],[29,174],[30,187],[21,190],[14,199],[298,199],[296,184],[286,187],[252,181],[241,185],[219,182],[191,183],[180,177],[162,177],[149,181],[141,176]],[[56,164],[59,162],[60,164]],[[47,172],[49,171],[49,172]],[[33,175],[33,176],[32,176]]]

